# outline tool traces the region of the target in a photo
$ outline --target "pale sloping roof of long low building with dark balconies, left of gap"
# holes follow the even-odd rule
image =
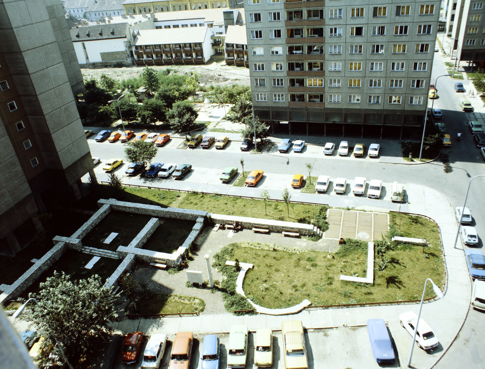
[[[207,32],[207,28],[205,28],[204,32],[199,27],[140,30],[135,37],[134,45],[191,44],[194,42],[204,42]]]

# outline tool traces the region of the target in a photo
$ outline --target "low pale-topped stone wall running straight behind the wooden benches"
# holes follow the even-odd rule
[[[246,216],[209,214],[214,223],[226,224],[228,222],[238,221],[242,228],[252,229],[254,225],[267,226],[270,232],[281,233],[283,228],[298,230],[302,236],[320,235],[320,229],[313,224],[302,224],[294,222],[283,222],[281,220],[249,218]]]

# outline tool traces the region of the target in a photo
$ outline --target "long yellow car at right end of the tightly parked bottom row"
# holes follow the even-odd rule
[[[302,322],[292,320],[281,323],[281,334],[283,336],[285,369],[308,368]]]

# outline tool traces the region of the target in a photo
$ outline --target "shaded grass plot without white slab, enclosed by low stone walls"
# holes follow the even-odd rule
[[[182,246],[187,236],[192,231],[195,222],[192,220],[160,218],[163,223],[143,246],[146,250],[166,252],[171,254]]]

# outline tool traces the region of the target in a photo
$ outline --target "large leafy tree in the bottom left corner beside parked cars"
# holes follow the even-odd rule
[[[45,353],[41,355],[41,368],[64,363],[56,338],[69,361],[82,364],[109,340],[113,332],[110,324],[122,320],[116,305],[119,295],[113,295],[113,287],[104,289],[101,277],[78,281],[70,277],[55,271],[53,277],[40,283],[38,293],[29,294],[38,307],[32,302],[32,310],[20,316],[36,327],[39,337],[45,337],[41,343],[41,352]],[[54,346],[49,352],[51,344]]]

